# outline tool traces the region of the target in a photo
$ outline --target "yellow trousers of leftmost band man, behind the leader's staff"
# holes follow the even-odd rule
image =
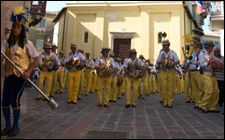
[[[40,71],[39,82],[38,82],[38,88],[40,90],[42,90],[44,80],[46,80],[46,88],[45,88],[44,93],[47,97],[49,97],[50,90],[51,90],[51,87],[52,87],[52,71],[51,72]],[[42,94],[37,92],[37,98],[41,98],[41,97],[42,97]]]

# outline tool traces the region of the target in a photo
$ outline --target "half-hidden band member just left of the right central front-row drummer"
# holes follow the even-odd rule
[[[116,62],[118,63],[118,73],[117,73],[117,97],[118,99],[121,99],[121,95],[122,95],[122,89],[123,89],[123,83],[121,84],[121,82],[124,82],[124,73],[123,73],[123,65],[121,64],[121,59],[120,58],[116,58]],[[119,82],[119,83],[118,83]]]

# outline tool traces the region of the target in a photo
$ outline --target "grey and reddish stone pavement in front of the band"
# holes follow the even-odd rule
[[[35,100],[36,89],[25,88],[21,98],[20,132],[2,139],[81,139],[88,131],[126,132],[128,139],[224,139],[224,116],[203,113],[175,95],[172,108],[159,103],[159,94],[137,99],[137,107],[125,108],[125,95],[109,108],[97,107],[97,93],[67,104],[67,90],[53,97],[59,107]],[[224,111],[224,107],[217,110]],[[11,112],[11,120],[12,112]],[[1,111],[1,129],[5,126]],[[90,138],[90,137],[89,137]],[[95,137],[93,137],[95,138]]]

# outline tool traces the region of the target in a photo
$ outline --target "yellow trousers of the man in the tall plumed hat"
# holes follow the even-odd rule
[[[203,98],[203,81],[200,71],[190,71],[192,94],[195,98],[196,106],[199,105]]]

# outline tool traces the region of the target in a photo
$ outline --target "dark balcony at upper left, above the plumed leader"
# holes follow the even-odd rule
[[[46,14],[47,1],[31,1],[30,15],[31,22],[30,26],[36,26]]]

